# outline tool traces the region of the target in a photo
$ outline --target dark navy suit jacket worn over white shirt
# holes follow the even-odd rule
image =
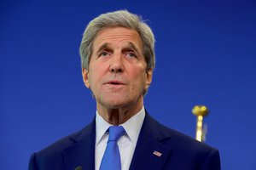
[[[34,153],[30,170],[95,169],[95,119],[84,129]],[[154,151],[161,153],[155,156]],[[146,113],[131,170],[219,170],[218,150],[156,122]]]

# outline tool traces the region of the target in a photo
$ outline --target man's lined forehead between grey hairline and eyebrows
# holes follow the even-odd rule
[[[104,43],[133,43],[137,48],[142,49],[143,42],[137,31],[125,27],[106,27],[98,31],[93,42],[97,48]]]

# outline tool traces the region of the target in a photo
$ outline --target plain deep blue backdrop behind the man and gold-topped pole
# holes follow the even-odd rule
[[[207,144],[223,169],[256,169],[253,0],[2,0],[0,169],[26,169],[32,152],[92,120],[79,43],[91,19],[124,8],[143,15],[156,37],[149,113],[194,137],[191,109],[207,105]]]

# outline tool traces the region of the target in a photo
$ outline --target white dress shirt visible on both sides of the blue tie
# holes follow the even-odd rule
[[[122,170],[128,170],[131,164],[131,159],[137,144],[137,139],[143,121],[145,118],[144,107],[136,115],[132,116],[128,121],[124,122],[119,126],[125,128],[125,134],[119,138],[119,152],[121,157]],[[96,150],[95,150],[95,169],[99,170],[102,157],[107,147],[108,142],[108,127],[113,126],[106,122],[102,116],[96,111]]]

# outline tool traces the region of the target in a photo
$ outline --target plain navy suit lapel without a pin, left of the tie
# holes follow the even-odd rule
[[[63,150],[62,156],[67,170],[76,167],[83,169],[95,169],[95,119],[87,127],[84,127],[77,135],[74,135],[73,145]]]

